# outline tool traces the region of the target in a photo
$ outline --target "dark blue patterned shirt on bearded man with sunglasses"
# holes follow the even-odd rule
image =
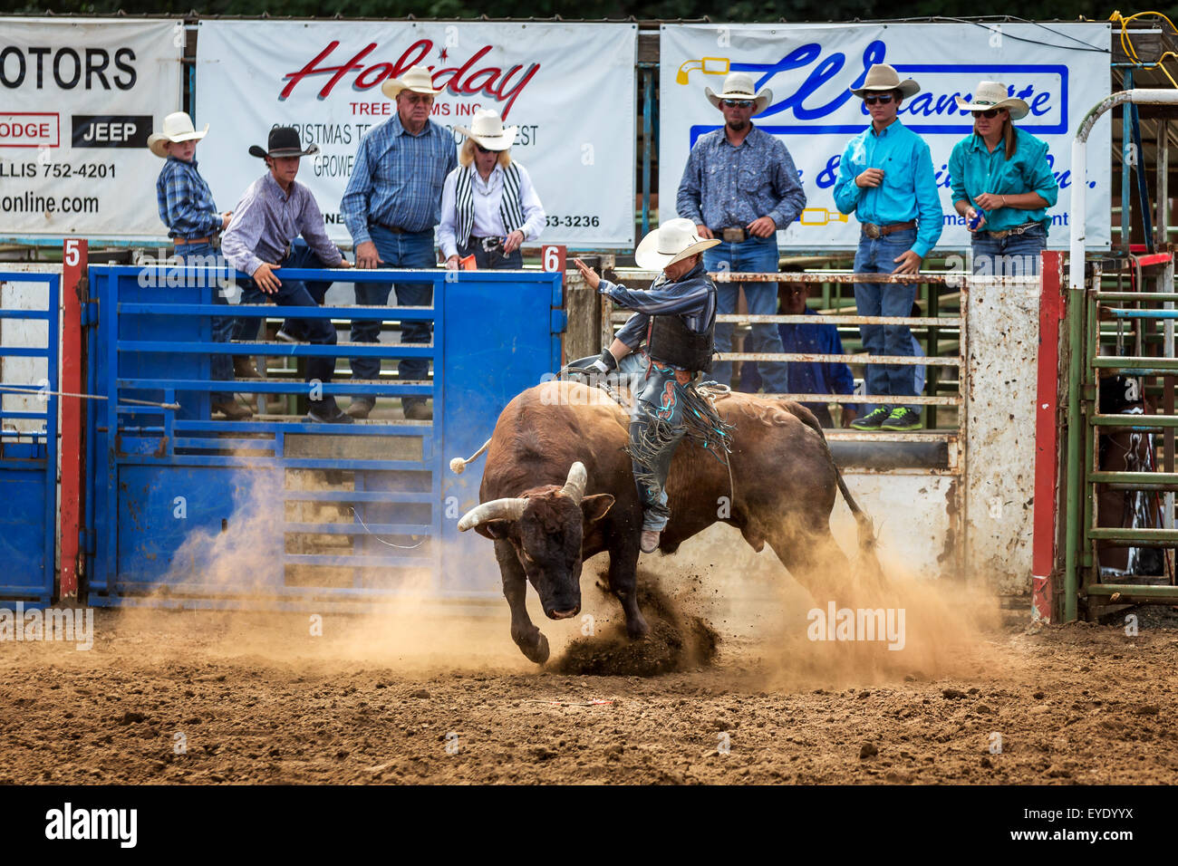
[[[803,207],[806,193],[793,157],[780,139],[755,126],[740,147],[728,143],[722,128],[701,135],[675,198],[679,216],[713,231],[743,229],[761,217],[785,229]]]

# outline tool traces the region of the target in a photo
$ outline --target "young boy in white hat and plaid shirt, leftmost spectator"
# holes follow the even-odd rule
[[[214,267],[218,264],[217,237],[229,227],[230,214],[220,213],[213,203],[209,184],[197,171],[197,141],[209,133],[209,124],[197,132],[185,112],[178,111],[164,118],[163,132],[147,137],[147,147],[157,157],[167,161],[155,180],[155,201],[159,218],[167,226],[167,234],[176,244],[176,256],[190,265]],[[214,304],[229,304],[220,290],[213,292]],[[216,343],[229,343],[237,319],[218,316],[212,320],[212,338]],[[250,366],[250,359],[239,356],[241,364]],[[210,375],[217,381],[229,381],[238,375],[239,363],[229,355],[213,355]],[[240,375],[252,371],[243,370]],[[232,421],[253,415],[238,403],[232,394],[212,394],[212,409]]]

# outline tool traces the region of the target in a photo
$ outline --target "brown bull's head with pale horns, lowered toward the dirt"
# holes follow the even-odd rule
[[[564,620],[581,613],[581,541],[585,527],[609,511],[609,494],[585,496],[584,464],[574,463],[564,487],[550,484],[524,496],[476,505],[458,529],[505,538],[515,548],[528,581],[540,594],[544,615]]]

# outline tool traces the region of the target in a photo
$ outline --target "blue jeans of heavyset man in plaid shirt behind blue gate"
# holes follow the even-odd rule
[[[434,230],[428,229],[415,234],[396,234],[378,225],[371,227],[372,243],[384,267],[434,267],[437,256],[434,252]],[[389,290],[392,283],[357,283],[356,303],[362,306],[384,306],[389,303]],[[434,303],[432,283],[397,283],[397,303],[402,306],[429,306]],[[423,320],[402,322],[402,343],[429,343],[432,323]],[[376,320],[352,322],[353,343],[379,343],[380,323]],[[402,358],[397,362],[397,377],[401,382],[429,378],[430,362],[428,358]],[[352,358],[353,379],[379,379],[379,358]],[[375,402],[375,397],[356,396],[352,399]],[[408,409],[415,403],[424,403],[424,397],[402,397],[402,405]]]

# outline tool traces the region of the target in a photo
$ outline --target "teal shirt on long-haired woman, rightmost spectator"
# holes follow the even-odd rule
[[[949,177],[953,201],[968,201],[974,207],[974,196],[986,192],[992,196],[1038,192],[1047,207],[1054,207],[1059,198],[1059,185],[1047,165],[1047,143],[1017,126],[1014,153],[1010,159],[1006,158],[1006,143],[1002,140],[993,151],[986,147],[986,141],[978,133],[958,141],[949,156]],[[982,230],[997,232],[1033,222],[1041,223],[1044,231],[1047,231],[1051,226],[1047,207],[1033,211],[999,207],[987,211]]]

